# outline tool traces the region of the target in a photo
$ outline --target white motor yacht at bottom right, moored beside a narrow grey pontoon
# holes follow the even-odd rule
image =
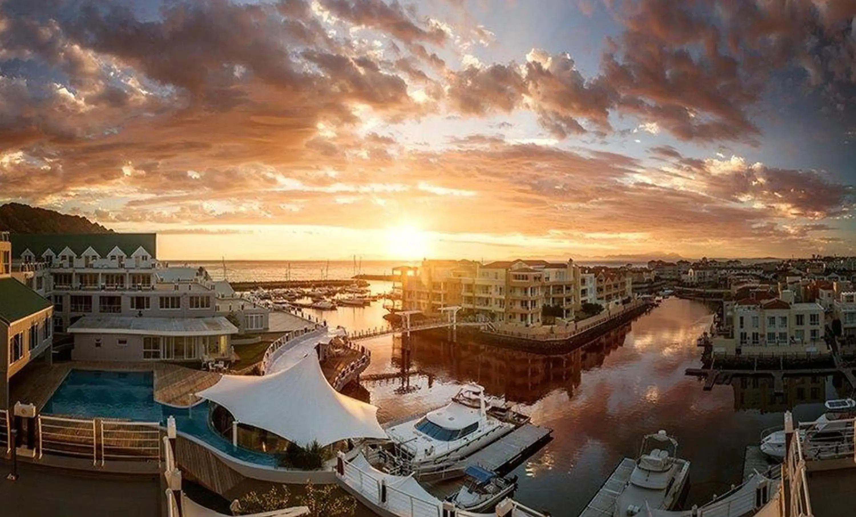
[[[687,486],[690,462],[677,457],[678,442],[665,431],[645,435],[627,484],[615,500],[613,517],[675,508]]]

